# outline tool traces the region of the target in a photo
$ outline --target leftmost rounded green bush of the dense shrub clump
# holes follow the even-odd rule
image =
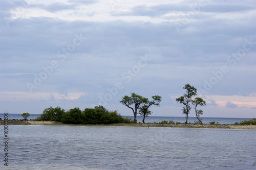
[[[39,121],[57,121],[60,122],[62,115],[65,113],[64,109],[61,109],[60,107],[52,108],[46,108],[42,114],[37,117],[35,120]]]

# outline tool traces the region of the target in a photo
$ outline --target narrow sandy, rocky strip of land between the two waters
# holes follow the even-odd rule
[[[4,125],[4,120],[0,120]],[[211,129],[256,129],[256,125],[229,125],[229,124],[160,124],[160,123],[136,123],[136,124],[64,124],[62,122],[35,121],[35,120],[8,120],[8,125],[53,125],[53,126],[125,126],[125,127],[167,127],[167,128],[211,128]]]

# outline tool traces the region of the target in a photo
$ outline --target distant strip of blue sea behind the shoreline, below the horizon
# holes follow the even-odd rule
[[[35,119],[39,116],[39,114],[30,114],[28,119]],[[124,117],[131,117],[133,116],[124,116]],[[4,114],[0,113],[0,118],[4,119]],[[22,114],[8,114],[9,119],[23,119]],[[241,120],[250,120],[251,118],[223,118],[223,117],[201,117],[202,122],[204,124],[209,124],[212,121],[218,122],[219,124],[234,124],[236,122],[240,122]],[[180,122],[185,123],[186,117],[170,117],[170,116],[149,116],[145,118],[145,123],[159,123],[162,120],[173,120],[174,122]],[[188,117],[188,123],[194,124],[194,121],[197,121],[198,119],[196,117]],[[142,123],[142,117],[137,116],[137,122]]]

